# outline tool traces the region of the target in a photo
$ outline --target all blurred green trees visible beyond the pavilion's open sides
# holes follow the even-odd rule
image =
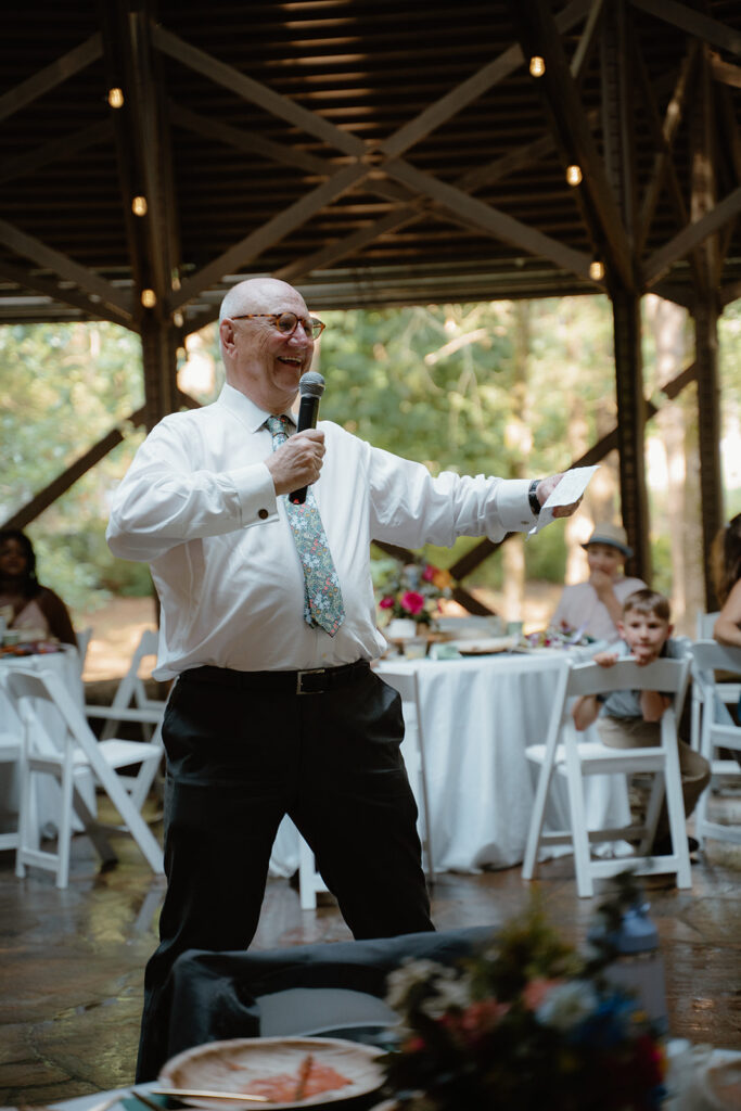
[[[317,363],[327,379],[322,417],[425,463],[433,473],[507,478],[518,473],[523,459],[532,476],[563,470],[571,462],[574,399],[588,441],[614,424],[612,314],[604,297],[531,303],[527,396],[517,407],[523,413],[517,420],[513,400],[520,380],[511,302],[321,316],[328,324]],[[737,442],[741,302],[735,302],[720,321],[720,366],[725,436],[735,436]],[[217,329],[210,326],[201,340],[218,363]],[[652,389],[648,349],[645,357]],[[106,322],[0,329],[0,520],[10,518],[142,401],[137,336]],[[111,490],[141,438],[141,430],[129,428],[124,443],[28,529],[43,580],[73,608],[90,609],[109,592],[150,589],[147,568],[113,560],[104,541]],[[738,512],[739,482],[730,470],[727,488],[729,512]],[[462,538],[451,551],[430,548],[425,556],[449,567],[475,543]],[[665,559],[663,549],[658,554]],[[525,558],[529,578],[562,581],[564,530],[539,533],[525,544]],[[498,557],[482,564],[468,584],[499,587]]]

